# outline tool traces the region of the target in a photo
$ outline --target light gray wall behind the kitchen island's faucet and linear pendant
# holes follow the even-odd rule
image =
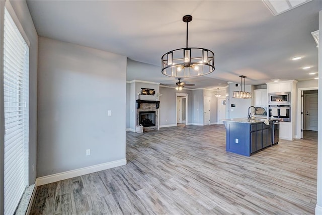
[[[238,87],[235,87],[235,83],[229,84],[229,96],[227,97],[227,116],[228,118],[247,118],[248,108],[253,105],[253,99],[238,99],[232,98],[233,91],[240,91],[240,84]],[[244,91],[244,85],[243,85]],[[245,91],[252,92],[252,86],[246,85]],[[235,107],[231,107],[231,104],[234,104]],[[233,110],[233,112],[231,111]]]

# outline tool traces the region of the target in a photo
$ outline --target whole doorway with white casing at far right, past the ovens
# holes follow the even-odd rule
[[[318,89],[300,88],[297,92],[297,135],[303,138],[303,131],[317,131]]]

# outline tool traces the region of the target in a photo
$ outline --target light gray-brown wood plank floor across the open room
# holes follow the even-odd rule
[[[314,135],[245,157],[223,125],[129,131],[127,165],[38,187],[31,214],[314,214]]]

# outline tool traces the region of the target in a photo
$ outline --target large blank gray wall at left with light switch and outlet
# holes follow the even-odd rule
[[[125,159],[126,57],[39,37],[38,62],[37,176]]]

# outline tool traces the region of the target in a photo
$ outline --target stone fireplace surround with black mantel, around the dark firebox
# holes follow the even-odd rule
[[[155,126],[143,127],[143,131],[159,130],[159,101],[136,100],[136,125],[140,125],[140,111],[155,111]]]

